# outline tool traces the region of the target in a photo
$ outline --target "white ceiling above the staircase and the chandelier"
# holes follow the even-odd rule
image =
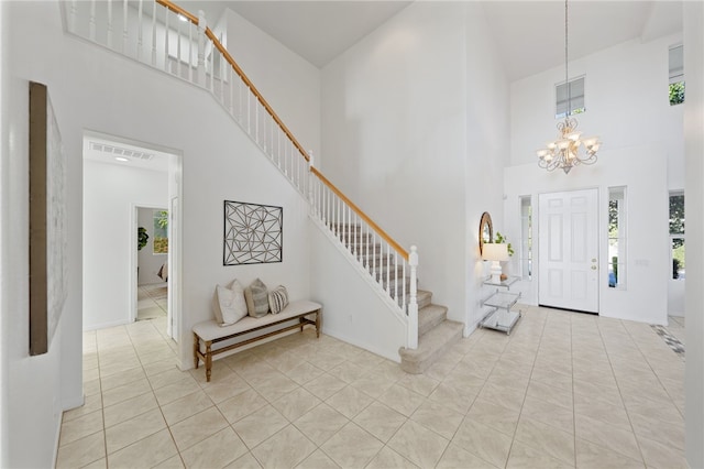
[[[204,10],[210,23],[230,8],[311,64],[323,67],[409,1],[178,1],[194,14]],[[509,80],[564,63],[564,3],[483,1],[498,54]],[[650,41],[682,31],[682,2],[572,0],[570,59],[620,42]]]

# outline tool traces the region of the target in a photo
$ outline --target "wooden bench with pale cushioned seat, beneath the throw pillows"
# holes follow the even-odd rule
[[[278,314],[267,314],[264,317],[251,317],[246,316],[231,326],[221,327],[215,319],[198,323],[194,326],[194,363],[198,368],[199,359],[206,364],[206,380],[210,381],[210,374],[212,369],[212,356],[223,353],[226,351],[235,349],[238,347],[245,346],[248,343],[255,342],[257,340],[265,339],[267,337],[275,336],[277,334],[286,332],[296,328],[300,328],[302,332],[304,326],[310,324],[316,326],[316,337],[320,337],[320,314],[322,306],[318,303],[308,301],[298,301],[289,303]],[[315,315],[316,319],[309,319],[306,316]],[[286,326],[280,329],[271,330],[262,334],[261,336],[252,337],[241,342],[232,343],[226,347],[213,350],[212,345],[221,342],[223,340],[233,339],[244,334],[254,332],[256,330],[265,329],[272,326],[276,326],[283,323],[298,319],[298,323]],[[201,351],[200,343],[202,342],[205,351]]]

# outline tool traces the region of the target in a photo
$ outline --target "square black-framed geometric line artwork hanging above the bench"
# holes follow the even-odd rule
[[[223,265],[282,262],[284,209],[224,200]]]

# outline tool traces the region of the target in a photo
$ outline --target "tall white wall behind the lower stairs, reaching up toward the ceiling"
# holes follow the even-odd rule
[[[502,215],[508,88],[481,6],[416,2],[322,70],[322,172],[475,323],[479,223]],[[468,329],[469,331],[469,329]]]

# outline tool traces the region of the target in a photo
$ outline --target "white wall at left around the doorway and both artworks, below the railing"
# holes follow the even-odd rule
[[[143,65],[65,35],[56,2],[11,2],[9,58],[12,79],[3,102],[3,355],[2,428],[9,467],[51,467],[61,410],[81,401],[81,204],[85,129],[183,150],[182,362],[189,367],[190,328],[211,317],[215,284],[261,276],[282,283],[293,299],[309,296],[307,206],[208,92]],[[6,33],[8,31],[8,33]],[[26,57],[33,57],[28,61]],[[68,159],[67,229],[69,295],[48,355],[26,357],[26,81],[45,83],[56,110]],[[4,151],[8,150],[8,151]],[[12,165],[10,166],[10,162]],[[6,173],[6,170],[8,173]],[[222,266],[222,200],[284,207],[284,262]],[[20,240],[20,241],[18,241]],[[24,244],[22,244],[24,243]],[[7,255],[6,255],[7,254]],[[11,275],[7,277],[6,274]],[[10,295],[6,296],[9,293]],[[7,299],[6,299],[7,298]],[[6,312],[12,312],[7,317]],[[61,379],[59,379],[61,377]],[[6,379],[7,378],[7,379]],[[56,405],[55,405],[56,402]],[[6,405],[7,404],[7,405]],[[3,433],[4,435],[4,433]],[[3,462],[4,462],[3,461]]]

